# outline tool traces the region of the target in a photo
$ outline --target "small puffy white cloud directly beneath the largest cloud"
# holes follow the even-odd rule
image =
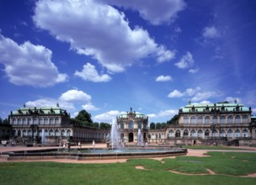
[[[90,63],[84,65],[82,71],[76,71],[75,76],[82,77],[83,80],[92,82],[109,82],[111,80],[111,77],[107,74],[99,75],[95,66]]]

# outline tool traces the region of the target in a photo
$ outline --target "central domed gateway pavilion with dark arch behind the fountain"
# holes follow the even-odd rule
[[[145,114],[133,112],[131,108],[130,112],[118,116],[116,123],[123,142],[138,142],[139,129],[143,142],[147,141],[148,117]]]

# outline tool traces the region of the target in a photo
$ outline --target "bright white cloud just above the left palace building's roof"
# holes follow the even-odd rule
[[[65,102],[74,102],[74,101],[91,101],[91,96],[83,91],[78,91],[76,89],[68,90],[61,94],[60,100]]]

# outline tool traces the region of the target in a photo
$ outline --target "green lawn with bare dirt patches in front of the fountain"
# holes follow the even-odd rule
[[[209,152],[209,157],[179,156],[164,163],[133,159],[115,164],[67,164],[58,162],[1,162],[0,184],[256,184],[256,177],[238,177],[256,172],[256,154]],[[147,170],[136,169],[144,166]],[[216,175],[181,175],[186,173]]]

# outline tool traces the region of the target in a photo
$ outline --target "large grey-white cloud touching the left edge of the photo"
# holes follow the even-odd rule
[[[51,61],[51,50],[29,41],[18,45],[0,34],[0,63],[4,65],[9,82],[15,85],[48,87],[66,82],[67,75],[59,73]]]

